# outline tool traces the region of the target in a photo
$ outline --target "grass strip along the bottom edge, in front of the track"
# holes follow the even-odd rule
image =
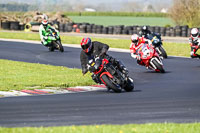
[[[0,128],[2,133],[199,133],[200,123]]]

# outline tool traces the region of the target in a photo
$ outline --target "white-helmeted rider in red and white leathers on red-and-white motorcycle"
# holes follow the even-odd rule
[[[144,37],[139,37],[137,34],[133,34],[131,36],[131,45],[130,45],[131,57],[133,57],[134,59],[137,59],[137,63],[142,66],[144,66],[145,64],[142,62],[142,60],[140,59],[140,56],[137,54],[136,51],[144,43],[152,44],[150,40],[145,39]]]

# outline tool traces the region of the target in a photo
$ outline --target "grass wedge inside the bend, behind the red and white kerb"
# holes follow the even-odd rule
[[[90,74],[83,76],[80,69],[9,60],[0,60],[0,64],[0,91],[95,84]]]

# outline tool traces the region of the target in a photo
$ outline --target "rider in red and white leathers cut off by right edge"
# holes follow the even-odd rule
[[[189,43],[191,46],[191,53],[190,53],[191,57],[200,58],[200,55],[196,54],[197,50],[200,48],[200,35],[199,35],[199,30],[197,28],[193,28],[191,30]]]

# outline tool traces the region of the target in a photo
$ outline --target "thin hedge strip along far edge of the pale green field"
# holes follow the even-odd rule
[[[66,16],[132,16],[132,17],[167,17],[166,13],[150,12],[64,12]]]

